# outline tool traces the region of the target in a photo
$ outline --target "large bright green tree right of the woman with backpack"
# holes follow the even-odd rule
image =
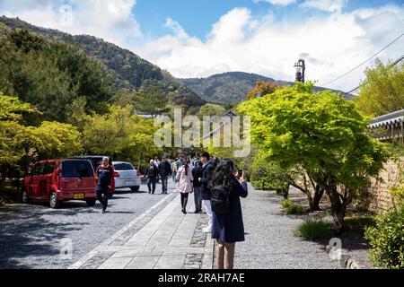
[[[251,140],[282,168],[303,168],[329,196],[338,230],[347,204],[388,158],[383,143],[366,133],[368,122],[353,102],[331,91],[296,83],[239,110],[251,116]]]

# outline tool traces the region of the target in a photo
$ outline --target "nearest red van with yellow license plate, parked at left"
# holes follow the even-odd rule
[[[48,202],[57,208],[67,200],[96,202],[96,179],[88,160],[50,160],[35,163],[24,179],[22,201]]]

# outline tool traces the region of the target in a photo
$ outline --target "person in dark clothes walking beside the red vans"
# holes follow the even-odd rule
[[[110,165],[110,159],[104,157],[102,164],[97,168],[97,199],[102,204],[102,213],[107,212],[110,186],[114,180],[114,168]]]

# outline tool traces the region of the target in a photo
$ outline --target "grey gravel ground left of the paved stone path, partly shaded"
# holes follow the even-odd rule
[[[117,190],[110,199],[109,213],[104,215],[98,202],[94,207],[84,202],[66,202],[57,210],[45,204],[0,207],[0,268],[72,265],[164,197],[160,195],[161,185],[157,185],[154,196],[146,190],[145,186],[138,193]],[[72,258],[60,257],[61,239],[72,240]]]

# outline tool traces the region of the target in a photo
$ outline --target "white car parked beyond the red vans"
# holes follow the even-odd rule
[[[132,163],[115,161],[113,167],[119,174],[119,177],[115,178],[116,188],[130,187],[134,192],[139,191],[142,179],[140,172],[133,167]]]

